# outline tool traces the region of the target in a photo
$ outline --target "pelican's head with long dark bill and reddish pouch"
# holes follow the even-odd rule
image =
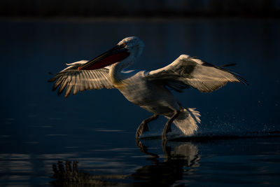
[[[100,69],[116,62],[123,63],[124,67],[128,67],[139,58],[144,46],[144,42],[138,37],[127,37],[111,50],[78,67],[78,70]]]

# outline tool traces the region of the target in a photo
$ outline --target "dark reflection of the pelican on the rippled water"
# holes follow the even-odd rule
[[[175,142],[174,142],[175,143]],[[199,166],[200,155],[197,146],[190,142],[178,143],[174,147],[162,144],[165,160],[158,154],[148,151],[141,141],[137,141],[140,151],[151,155],[147,158],[151,165],[140,167],[127,175],[96,175],[80,171],[77,161],[59,161],[52,166],[53,186],[170,186],[183,179],[183,174],[192,174],[194,167]],[[178,183],[180,184],[180,183]]]

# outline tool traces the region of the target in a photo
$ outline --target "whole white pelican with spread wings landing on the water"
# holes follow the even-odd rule
[[[76,95],[84,90],[116,88],[128,101],[153,113],[139,125],[136,139],[148,131],[151,120],[162,115],[168,119],[162,132],[162,139],[166,140],[167,133],[172,131],[172,123],[187,136],[192,135],[200,123],[200,113],[183,107],[171,90],[183,92],[186,88],[195,88],[200,92],[212,92],[228,82],[246,84],[239,74],[224,68],[233,64],[218,67],[189,55],[180,55],[161,69],[126,71],[137,62],[143,49],[143,41],[132,36],[93,60],[66,64],[66,69],[49,80],[55,81],[52,90],[59,87],[58,95],[66,90],[65,97],[68,97],[71,92]]]

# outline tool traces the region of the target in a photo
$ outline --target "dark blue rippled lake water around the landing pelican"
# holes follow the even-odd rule
[[[280,20],[0,23],[0,186],[280,185]],[[137,146],[137,127],[151,114],[118,90],[65,99],[47,82],[66,62],[90,60],[126,36],[146,43],[132,69],[158,69],[188,54],[237,63],[231,69],[249,85],[174,93],[202,114],[197,133],[162,145],[166,120],[159,118]]]

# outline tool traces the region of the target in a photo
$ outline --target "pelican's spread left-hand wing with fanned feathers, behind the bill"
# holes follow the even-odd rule
[[[58,95],[60,95],[64,88],[66,88],[65,97],[68,97],[73,90],[73,95],[77,92],[84,90],[101,89],[101,88],[114,88],[109,77],[108,67],[96,70],[78,70],[86,60],[73,62],[66,69],[57,73],[49,82],[55,82],[52,90],[56,90],[59,86]]]

